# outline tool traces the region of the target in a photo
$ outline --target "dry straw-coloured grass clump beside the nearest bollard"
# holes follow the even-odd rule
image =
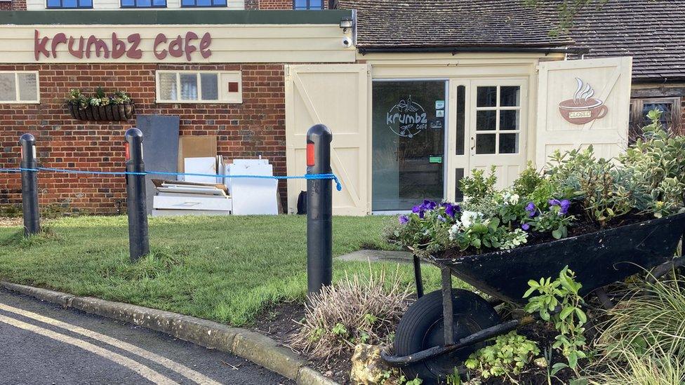
[[[384,344],[410,302],[411,285],[401,284],[399,269],[387,276],[370,271],[345,277],[310,296],[305,319],[291,345],[312,358],[351,352],[357,344]]]

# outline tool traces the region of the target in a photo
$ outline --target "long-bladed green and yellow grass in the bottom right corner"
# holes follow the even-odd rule
[[[590,384],[685,383],[684,276],[638,280],[606,311],[587,368]]]

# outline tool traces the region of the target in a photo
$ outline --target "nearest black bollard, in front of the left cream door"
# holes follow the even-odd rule
[[[331,141],[328,127],[307,131],[307,175],[330,174]],[[307,180],[307,292],[319,292],[333,281],[333,182]]]

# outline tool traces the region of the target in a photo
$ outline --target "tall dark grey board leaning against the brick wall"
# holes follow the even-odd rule
[[[142,131],[142,159],[145,170],[175,173],[178,164],[178,116],[138,115],[135,118],[138,129]],[[145,193],[147,195],[147,213],[152,213],[154,184],[152,178],[176,180],[164,175],[147,175]]]

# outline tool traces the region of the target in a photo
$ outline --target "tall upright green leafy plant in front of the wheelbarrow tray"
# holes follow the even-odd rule
[[[579,358],[587,357],[583,351],[587,344],[583,335],[587,316],[582,309],[585,304],[583,297],[578,294],[583,285],[576,282],[575,277],[576,274],[566,266],[554,281],[552,278],[528,281],[530,288],[524,294],[524,298],[528,298],[533,292],[538,292],[537,296],[528,299],[525,310],[538,313],[540,318],[554,324],[559,335],[552,347],[561,350],[568,360],[568,367],[573,370],[576,370]]]

